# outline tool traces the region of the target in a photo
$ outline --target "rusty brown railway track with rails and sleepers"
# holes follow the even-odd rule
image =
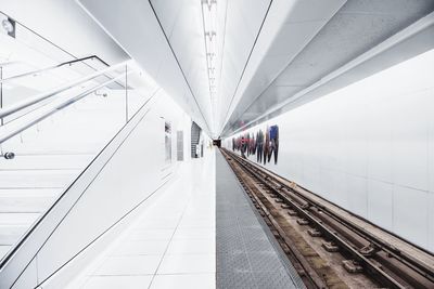
[[[434,288],[431,264],[301,194],[296,184],[221,153],[307,288]]]

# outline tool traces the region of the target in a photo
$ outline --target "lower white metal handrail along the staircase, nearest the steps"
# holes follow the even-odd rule
[[[112,79],[110,79],[110,80],[107,80],[107,81],[105,81],[103,83],[94,86],[94,87],[92,87],[92,88],[79,93],[78,95],[76,95],[74,97],[65,100],[64,102],[62,102],[60,104],[56,104],[53,107],[50,107],[42,115],[31,119],[28,122],[25,122],[25,123],[22,123],[21,126],[17,126],[17,128],[12,129],[10,132],[5,132],[3,135],[0,134],[0,144],[2,144],[3,142],[8,141],[9,139],[15,136],[16,134],[23,132],[24,130],[37,124],[38,122],[42,121],[47,117],[49,117],[49,116],[51,116],[51,115],[64,109],[65,107],[78,102],[79,100],[84,98],[85,96],[89,95],[90,93],[92,93],[92,92],[94,92],[94,91],[97,91],[97,90],[99,90],[101,88],[104,88],[104,87],[108,86],[110,83],[112,83],[112,82],[114,82],[116,80],[119,80],[120,78],[124,78],[125,76],[127,76],[128,74],[131,74],[131,73],[135,73],[135,71],[131,70],[129,73],[124,73],[124,74],[122,74],[122,75],[119,75],[119,76],[117,76],[115,78],[112,78]],[[7,129],[8,129],[7,126],[3,126],[0,129],[0,132],[1,132],[1,130],[7,130]]]

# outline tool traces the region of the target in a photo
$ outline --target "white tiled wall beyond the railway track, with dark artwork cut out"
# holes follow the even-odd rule
[[[434,252],[434,50],[266,124],[268,169]]]

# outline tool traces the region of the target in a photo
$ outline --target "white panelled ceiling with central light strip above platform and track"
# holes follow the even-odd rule
[[[423,52],[407,45],[393,61],[373,58],[375,69],[358,66],[339,83],[322,83],[315,97],[301,96],[434,10],[432,0],[79,2],[213,137],[277,116],[290,106],[270,108],[295,97],[303,104],[299,98],[314,100]],[[430,34],[418,41],[432,47]]]

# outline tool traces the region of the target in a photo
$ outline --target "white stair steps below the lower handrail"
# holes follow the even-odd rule
[[[0,254],[46,212],[126,122],[125,91],[90,95],[1,145]],[[150,97],[129,92],[132,115]]]

